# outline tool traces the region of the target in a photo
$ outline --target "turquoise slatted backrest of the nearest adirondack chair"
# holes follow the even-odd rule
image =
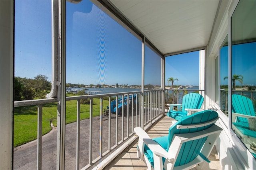
[[[192,125],[192,124],[204,123],[207,121],[211,121],[216,117],[218,117],[218,113],[216,111],[205,110],[198,113],[194,113],[193,115],[190,115],[188,117],[184,117],[180,121],[176,122],[169,129],[168,150],[173,140],[174,134],[193,133],[193,132],[202,131],[204,129],[211,127],[214,123],[210,125],[205,125],[202,127],[188,128],[188,129],[177,129],[176,125],[188,125],[188,124]],[[207,137],[203,137],[200,139],[183,143],[174,166],[187,164],[188,162],[191,162],[192,160],[194,160],[200,153],[206,139]]]

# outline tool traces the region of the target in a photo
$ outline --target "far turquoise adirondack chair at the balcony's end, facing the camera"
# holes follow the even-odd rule
[[[186,94],[182,98],[182,104],[167,104],[170,106],[167,116],[180,120],[182,117],[191,115],[192,111],[202,111],[203,109],[200,108],[203,102],[204,97],[198,93]],[[178,111],[173,110],[174,106],[178,108]]]

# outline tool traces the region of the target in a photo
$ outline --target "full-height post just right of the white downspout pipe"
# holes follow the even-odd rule
[[[57,155],[56,169],[64,169],[65,165],[65,130],[66,130],[66,1],[52,0],[55,15],[58,15],[58,44],[54,45],[58,48],[58,106],[57,106]],[[56,6],[58,8],[56,8]],[[57,11],[56,11],[57,10]],[[55,42],[55,41],[54,41]],[[54,63],[56,64],[56,63]]]

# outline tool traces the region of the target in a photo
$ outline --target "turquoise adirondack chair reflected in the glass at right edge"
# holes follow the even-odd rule
[[[250,127],[250,121],[256,123],[256,116],[252,100],[238,94],[232,95],[232,128],[240,137],[245,140],[253,140],[256,142],[256,124]],[[255,138],[255,139],[252,139]],[[250,143],[250,142],[249,142]]]

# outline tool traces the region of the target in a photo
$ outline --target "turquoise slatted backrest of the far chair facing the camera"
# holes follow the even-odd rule
[[[200,109],[203,102],[203,96],[198,93],[186,94],[182,98],[182,112],[186,112],[185,109]]]

